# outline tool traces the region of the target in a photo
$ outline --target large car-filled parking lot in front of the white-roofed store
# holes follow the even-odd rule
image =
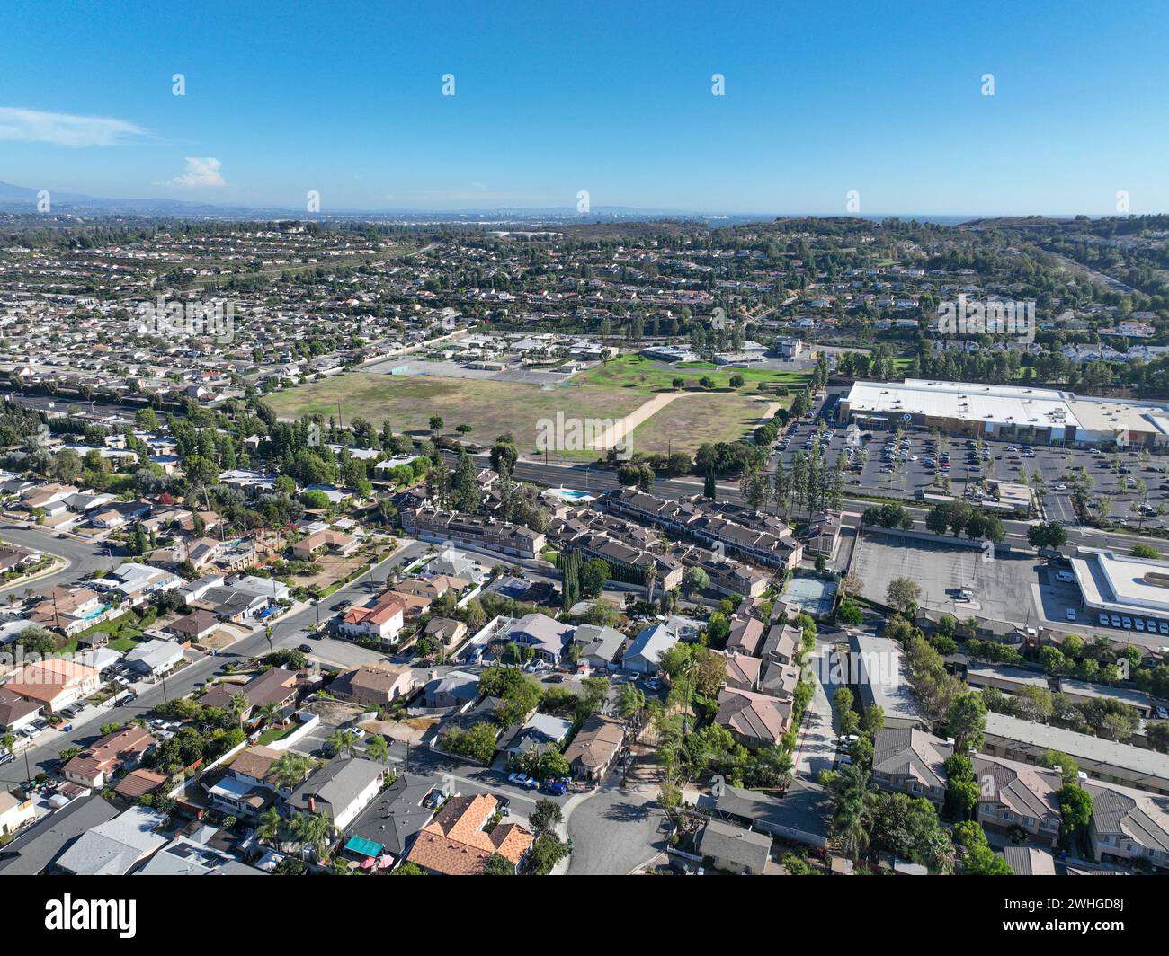
[[[1129,526],[1140,522],[1140,515],[1132,508],[1139,503],[1136,482],[1141,479],[1148,490],[1143,526],[1169,526],[1169,457],[1164,455],[1149,453],[1142,459],[1140,451],[1065,449],[997,439],[983,439],[978,445],[974,439],[947,436],[939,436],[934,443],[931,432],[908,425],[898,435],[895,429],[830,424],[817,437],[821,422],[831,422],[838,400],[839,390],[830,390],[815,421],[798,422],[788,429],[777,448],[777,456],[787,466],[796,452],[807,456],[815,445],[830,466],[841,455],[849,459],[848,489],[853,492],[913,498],[919,491],[943,492],[942,479],[948,478],[947,493],[969,493],[975,500],[985,480],[1018,482],[1025,471],[1028,484],[1033,487],[1037,485],[1033,476],[1039,472],[1047,517],[1063,524],[1075,524],[1071,482],[1073,472],[1082,467],[1093,483],[1092,498],[1111,499],[1113,520]],[[948,455],[948,460],[943,455]]]

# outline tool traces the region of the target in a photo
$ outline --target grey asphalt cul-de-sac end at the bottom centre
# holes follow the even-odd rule
[[[622,792],[616,782],[573,806],[567,823],[569,877],[624,877],[665,850],[666,819],[657,798]]]

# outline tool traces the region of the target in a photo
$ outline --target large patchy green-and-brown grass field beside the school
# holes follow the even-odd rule
[[[663,369],[639,355],[623,355],[604,366],[590,368],[563,386],[542,389],[524,382],[485,379],[442,379],[437,376],[394,376],[351,372],[318,382],[279,392],[265,400],[282,418],[320,415],[336,418],[338,402],[343,422],[361,417],[374,428],[388,421],[395,431],[428,431],[431,415],[441,415],[443,431],[454,432],[461,424],[471,425],[468,436],[490,444],[497,435],[510,431],[520,448],[534,449],[541,418],[555,420],[556,413],[579,418],[623,418],[660,393],[673,393],[676,377],[697,387],[710,376],[715,388],[729,389],[731,376],[741,375],[738,392],[708,392],[683,395],[643,422],[634,431],[638,451],[692,452],[703,442],[735,441],[759,423],[767,411],[756,385],[770,381],[790,392],[803,388],[805,375],[790,372],[727,369],[705,362],[684,368]],[[768,395],[775,401],[774,395]],[[782,404],[789,397],[780,397]],[[566,457],[595,458],[599,452],[580,450]]]

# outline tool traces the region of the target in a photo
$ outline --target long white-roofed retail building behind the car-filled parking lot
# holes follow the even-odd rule
[[[860,427],[1040,444],[1169,445],[1169,406],[1073,395],[1053,388],[942,382],[855,382],[838,417]]]

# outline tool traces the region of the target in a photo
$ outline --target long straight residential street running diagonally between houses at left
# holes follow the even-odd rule
[[[12,535],[11,532],[7,533],[7,535],[11,536],[12,540],[15,540],[15,536]],[[53,543],[56,545],[58,541],[54,540]],[[63,541],[60,543],[63,543]],[[401,564],[409,564],[410,562],[417,560],[420,556],[426,554],[429,547],[429,545],[419,541],[410,541],[410,543],[400,548],[380,564],[366,570],[360,577],[347,584],[345,588],[334,591],[321,603],[325,608],[328,608],[338,601],[345,598],[354,603],[367,601],[372,596],[373,591],[376,590],[371,586],[371,581],[383,582],[386,580],[386,575],[393,568]],[[74,571],[74,574],[76,574],[76,571]],[[325,610],[323,609],[323,618]],[[316,623],[316,621],[317,608],[312,605],[302,607],[299,610],[289,614],[274,625],[272,646],[289,647],[304,643],[305,633]],[[43,736],[48,737],[49,741],[43,744],[34,746],[27,751],[28,770],[30,770],[33,775],[35,775],[39,770],[49,771],[60,762],[58,755],[61,750],[67,747],[87,747],[98,737],[98,728],[103,723],[112,722],[113,720],[117,720],[120,723],[126,723],[136,718],[144,718],[148,715],[155,706],[161,704],[164,699],[185,697],[192,693],[195,690],[196,684],[205,683],[224,664],[230,661],[238,663],[248,660],[267,651],[268,639],[264,637],[264,629],[257,628],[248,637],[237,640],[230,647],[221,651],[217,656],[201,656],[194,659],[191,664],[173,677],[167,678],[164,683],[155,685],[139,685],[137,700],[123,707],[111,707],[109,711],[109,720],[104,718],[95,718],[85,725],[68,733],[57,733],[55,730],[46,732]],[[25,783],[27,780],[28,774],[26,773],[23,754],[18,755],[15,761],[0,767],[0,783]]]

